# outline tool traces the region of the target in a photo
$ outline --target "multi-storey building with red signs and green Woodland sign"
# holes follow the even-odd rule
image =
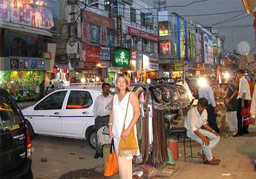
[[[84,5],[78,19],[77,3],[67,5],[69,13],[61,37],[66,43],[58,45],[59,65],[71,61],[75,68],[72,74],[87,81],[97,77],[111,81],[121,72],[141,81],[156,75],[159,36],[154,8],[132,0],[89,1]]]

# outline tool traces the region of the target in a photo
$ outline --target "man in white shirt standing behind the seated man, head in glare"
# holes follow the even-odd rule
[[[207,122],[209,126],[214,130],[218,131],[217,121],[216,121],[216,102],[214,100],[214,93],[210,86],[211,78],[205,77],[207,84],[200,84],[200,88],[198,89],[199,98],[206,98],[208,100],[207,105]]]

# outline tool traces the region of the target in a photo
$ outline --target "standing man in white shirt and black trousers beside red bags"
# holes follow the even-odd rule
[[[237,105],[237,133],[233,137],[243,136],[248,134],[248,125],[243,125],[241,111],[248,108],[249,100],[252,100],[250,93],[250,85],[244,77],[244,70],[237,70],[237,77],[239,78],[239,91],[238,91],[238,105]]]

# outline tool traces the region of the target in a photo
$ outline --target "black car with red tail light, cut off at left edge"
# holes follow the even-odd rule
[[[22,113],[5,89],[0,88],[0,178],[33,178],[29,129]]]

